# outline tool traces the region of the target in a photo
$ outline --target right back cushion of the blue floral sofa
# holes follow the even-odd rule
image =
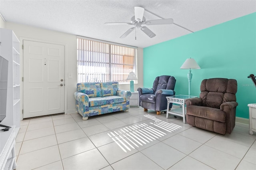
[[[113,96],[116,95],[116,91],[118,90],[118,82],[110,81],[100,83],[102,97],[104,96]]]

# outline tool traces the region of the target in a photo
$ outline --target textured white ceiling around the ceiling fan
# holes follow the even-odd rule
[[[136,40],[135,32],[121,39],[132,26],[104,23],[130,22],[134,6],[145,8],[146,20],[173,18],[174,24],[147,26],[154,38],[137,29]],[[0,0],[0,13],[7,22],[142,48],[253,12],[256,0]]]

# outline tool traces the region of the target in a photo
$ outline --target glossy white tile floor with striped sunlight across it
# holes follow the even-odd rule
[[[82,120],[79,114],[21,121],[17,170],[255,170],[256,134],[221,135],[180,117],[131,107]]]

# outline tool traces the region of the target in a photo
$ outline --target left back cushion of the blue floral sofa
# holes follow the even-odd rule
[[[101,97],[100,83],[77,83],[77,91],[85,93],[88,97]]]

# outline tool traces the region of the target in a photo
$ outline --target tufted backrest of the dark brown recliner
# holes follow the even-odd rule
[[[235,79],[204,79],[200,85],[202,106],[220,109],[222,103],[236,101],[237,81]]]

